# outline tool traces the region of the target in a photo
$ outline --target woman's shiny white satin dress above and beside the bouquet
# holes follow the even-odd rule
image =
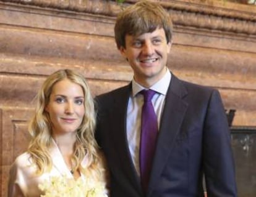
[[[63,176],[67,179],[74,179],[54,140],[53,147],[49,148],[49,153],[53,161],[53,167],[50,172],[39,176],[36,175],[36,166],[30,159],[29,153],[25,152],[15,159],[9,175],[8,197],[40,197],[43,192],[38,188],[38,185],[49,180],[50,177]],[[85,156],[81,166],[86,166],[86,162],[87,158]],[[85,179],[83,174],[81,174],[81,179]]]

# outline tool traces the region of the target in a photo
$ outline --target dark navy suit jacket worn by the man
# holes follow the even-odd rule
[[[217,90],[172,74],[147,195],[130,157],[126,111],[131,84],[96,97],[96,140],[111,174],[111,197],[237,196],[228,121]]]

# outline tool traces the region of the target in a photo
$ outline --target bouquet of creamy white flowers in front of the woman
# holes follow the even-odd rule
[[[41,197],[107,197],[105,183],[92,179],[77,180],[67,177],[51,177],[38,185],[45,192]]]

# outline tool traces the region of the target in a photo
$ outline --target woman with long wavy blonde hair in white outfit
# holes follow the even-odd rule
[[[11,167],[8,196],[43,195],[39,185],[51,177],[106,183],[94,129],[95,109],[85,78],[72,70],[51,74],[38,92],[28,150]]]

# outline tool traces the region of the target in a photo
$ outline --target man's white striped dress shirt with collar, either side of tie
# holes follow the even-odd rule
[[[163,78],[153,84],[149,89],[155,90],[156,94],[153,96],[151,102],[155,109],[155,113],[158,119],[158,130],[160,127],[161,115],[163,113],[164,102],[166,93],[171,81],[171,73],[166,71]],[[129,145],[130,156],[134,163],[137,173],[140,175],[140,163],[139,163],[139,150],[140,150],[140,132],[141,132],[141,115],[143,105],[143,95],[138,94],[145,87],[140,86],[134,79],[132,79],[132,94],[129,98],[127,107],[127,142]]]

